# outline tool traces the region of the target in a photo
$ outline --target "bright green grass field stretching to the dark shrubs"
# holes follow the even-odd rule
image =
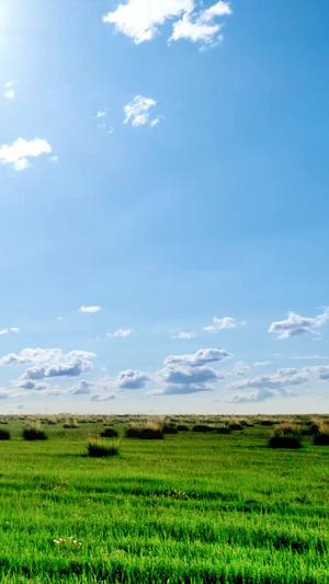
[[[329,582],[329,448],[309,436],[272,449],[256,421],[89,458],[102,422],[45,424],[44,442],[23,440],[23,420],[3,427],[1,583]]]

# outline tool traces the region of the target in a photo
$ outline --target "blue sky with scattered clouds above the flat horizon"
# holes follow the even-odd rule
[[[0,413],[327,413],[325,0],[1,0]]]

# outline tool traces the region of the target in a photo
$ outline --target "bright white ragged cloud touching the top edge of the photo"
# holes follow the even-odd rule
[[[229,4],[219,1],[205,10],[195,0],[128,0],[103,16],[103,22],[131,37],[135,44],[150,41],[167,21],[173,21],[169,42],[189,41],[214,43],[222,27],[216,19],[231,14]]]

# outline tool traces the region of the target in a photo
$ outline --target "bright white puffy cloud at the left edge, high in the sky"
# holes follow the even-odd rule
[[[18,138],[11,146],[4,144],[0,147],[0,161],[2,164],[13,164],[14,170],[21,171],[30,167],[30,158],[49,152],[52,152],[52,146],[47,140]]]

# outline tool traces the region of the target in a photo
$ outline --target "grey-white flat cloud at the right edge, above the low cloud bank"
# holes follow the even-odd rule
[[[329,320],[329,308],[325,307],[324,312],[315,318],[302,317],[296,312],[288,312],[286,320],[272,322],[269,332],[277,334],[277,339],[291,339],[304,333],[319,334],[318,329],[324,327]]]

